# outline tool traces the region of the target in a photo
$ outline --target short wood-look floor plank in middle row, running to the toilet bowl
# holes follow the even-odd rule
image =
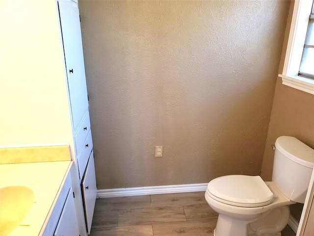
[[[208,204],[183,206],[187,220],[201,220],[218,218],[218,213]]]

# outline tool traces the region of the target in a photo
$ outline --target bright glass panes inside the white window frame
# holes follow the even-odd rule
[[[314,79],[314,3],[312,4],[299,75]]]

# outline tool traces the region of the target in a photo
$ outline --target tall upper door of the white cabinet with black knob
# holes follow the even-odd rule
[[[73,1],[58,1],[63,49],[68,76],[74,129],[77,129],[88,109],[86,78],[80,31],[78,5]]]

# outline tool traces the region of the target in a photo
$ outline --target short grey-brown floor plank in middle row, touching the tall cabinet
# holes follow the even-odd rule
[[[92,228],[105,228],[118,226],[118,211],[94,211]]]

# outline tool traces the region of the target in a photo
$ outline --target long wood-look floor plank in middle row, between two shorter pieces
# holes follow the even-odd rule
[[[119,210],[118,226],[186,221],[183,207],[150,207]]]

